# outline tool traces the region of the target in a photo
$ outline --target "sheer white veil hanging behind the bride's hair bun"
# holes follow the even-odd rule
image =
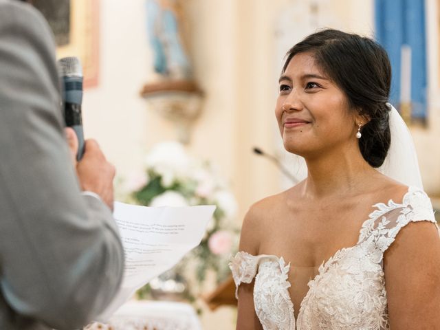
[[[406,126],[395,107],[390,103],[387,103],[387,105],[391,108],[389,113],[391,146],[384,164],[377,170],[406,186],[423,189],[417,153],[408,126]],[[303,157],[296,155],[294,157],[296,158],[296,164],[293,175],[296,181],[301,181],[307,177],[307,165]],[[292,162],[290,161],[290,163]]]

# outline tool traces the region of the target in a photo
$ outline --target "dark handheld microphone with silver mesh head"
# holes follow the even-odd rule
[[[81,103],[83,102],[83,68],[79,58],[65,57],[58,60],[58,70],[63,88],[63,114],[65,124],[74,129],[78,137],[76,160],[84,154],[83,119]]]

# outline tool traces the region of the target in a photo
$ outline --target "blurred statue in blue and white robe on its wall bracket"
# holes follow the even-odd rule
[[[179,140],[187,144],[190,125],[201,111],[202,92],[192,79],[181,33],[179,0],[146,0],[146,18],[155,79],[144,85],[141,95],[177,124]]]

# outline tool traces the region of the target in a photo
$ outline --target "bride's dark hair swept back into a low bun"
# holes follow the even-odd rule
[[[311,52],[316,64],[333,80],[370,121],[362,126],[359,140],[362,157],[373,167],[384,163],[391,144],[388,123],[391,65],[375,41],[338,30],[322,30],[307,36],[287,52],[283,73],[299,53]]]

